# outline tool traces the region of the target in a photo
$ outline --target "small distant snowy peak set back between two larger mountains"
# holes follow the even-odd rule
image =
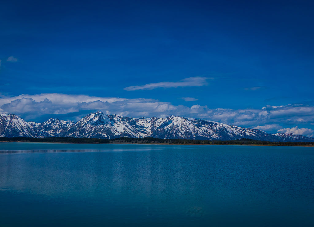
[[[72,121],[67,122],[63,120],[60,121],[59,119],[50,118],[47,121],[42,122],[41,124],[35,122],[29,123],[33,125],[34,128],[38,129],[41,132],[46,132],[51,136],[56,136],[63,131],[67,131],[68,127],[72,125],[74,122]]]

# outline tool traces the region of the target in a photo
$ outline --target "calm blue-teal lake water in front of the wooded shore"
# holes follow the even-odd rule
[[[314,148],[0,143],[0,226],[314,226]]]

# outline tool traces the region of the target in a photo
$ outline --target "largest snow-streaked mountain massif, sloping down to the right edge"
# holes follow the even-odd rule
[[[314,141],[314,138],[277,133],[269,134],[258,129],[242,128],[219,122],[169,116],[165,119],[131,118],[119,115],[90,113],[71,125],[59,136],[88,138],[154,137],[206,140],[232,140],[249,138],[265,141]]]

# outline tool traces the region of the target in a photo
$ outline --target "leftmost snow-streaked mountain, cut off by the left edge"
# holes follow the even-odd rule
[[[35,123],[35,122],[34,122]],[[0,115],[0,137],[50,137],[14,114]]]

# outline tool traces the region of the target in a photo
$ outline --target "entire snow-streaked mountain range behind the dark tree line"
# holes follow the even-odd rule
[[[292,133],[270,134],[208,120],[168,116],[166,118],[132,118],[100,111],[90,113],[78,122],[48,119],[42,123],[26,122],[14,114],[0,115],[0,137],[119,137],[163,139],[234,140],[241,138],[278,141],[312,142],[314,138]]]

